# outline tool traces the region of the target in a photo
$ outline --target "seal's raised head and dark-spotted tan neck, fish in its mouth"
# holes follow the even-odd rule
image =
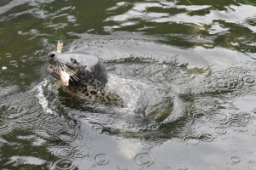
[[[118,94],[107,88],[108,74],[106,66],[94,54],[85,52],[51,52],[48,54],[49,73],[73,94],[94,99],[108,105],[122,105]]]

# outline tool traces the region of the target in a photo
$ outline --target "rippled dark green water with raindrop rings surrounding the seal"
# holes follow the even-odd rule
[[[1,169],[256,169],[255,6],[1,1]],[[147,116],[56,88],[57,41],[157,89]]]

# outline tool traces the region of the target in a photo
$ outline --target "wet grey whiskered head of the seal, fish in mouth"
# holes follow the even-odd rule
[[[50,74],[61,79],[65,86],[93,84],[104,87],[108,81],[106,67],[95,55],[51,52],[48,57],[49,64],[54,66]]]

